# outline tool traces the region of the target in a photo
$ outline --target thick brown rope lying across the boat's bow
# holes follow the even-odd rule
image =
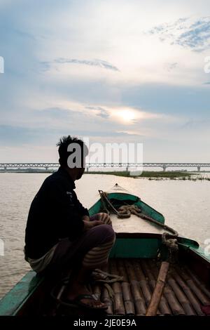
[[[165,225],[164,223],[160,223],[159,221],[151,218],[150,216],[146,216],[146,214],[142,213],[141,209],[139,206],[133,204],[133,205],[123,205],[120,206],[118,210],[113,206],[111,201],[108,198],[108,195],[106,192],[103,190],[99,190],[100,197],[102,199],[102,205],[104,206],[104,211],[108,211],[109,209],[115,213],[118,218],[130,218],[131,214],[134,214],[136,216],[139,216],[139,218],[142,218],[144,220],[148,220],[151,223],[155,223],[155,225],[159,225],[163,229],[167,230],[168,232],[172,232],[172,235],[174,237],[179,236],[179,233],[176,232],[172,227],[169,227],[168,225]],[[107,212],[106,212],[107,213]],[[110,213],[110,212],[109,212]],[[108,213],[108,214],[109,214]],[[165,233],[165,236],[168,235]]]

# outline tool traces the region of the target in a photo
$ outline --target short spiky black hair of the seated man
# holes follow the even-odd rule
[[[76,138],[76,136],[62,136],[62,138],[59,139],[59,142],[57,143],[58,153],[59,153],[59,164],[62,166],[68,166],[68,158],[73,152],[76,151],[76,148],[73,148],[72,151],[68,151],[69,145],[77,144],[80,146],[80,154],[78,155],[81,160],[80,166],[74,166],[74,167],[82,167],[83,162],[85,160],[85,157],[88,154],[88,148],[87,145],[85,145],[83,140],[80,140]],[[76,157],[74,157],[73,161],[76,163]]]

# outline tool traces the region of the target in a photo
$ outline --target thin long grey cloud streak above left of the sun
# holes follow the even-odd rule
[[[54,60],[55,63],[72,63],[72,64],[83,64],[83,65],[90,65],[94,67],[102,67],[107,70],[113,70],[113,71],[120,71],[118,67],[115,67],[109,62],[106,62],[105,60],[78,60],[76,58],[57,58]]]

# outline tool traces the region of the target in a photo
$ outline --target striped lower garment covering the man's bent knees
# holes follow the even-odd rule
[[[83,232],[78,239],[70,242],[62,239],[55,249],[46,272],[60,272],[69,268],[83,267],[94,270],[104,265],[115,242],[116,235],[111,225],[111,219],[106,213],[97,213],[92,220],[102,220],[103,225],[97,225]]]

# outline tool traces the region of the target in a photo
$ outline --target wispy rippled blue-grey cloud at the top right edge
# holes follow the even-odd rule
[[[210,16],[198,20],[180,18],[176,22],[153,27],[149,34],[158,34],[160,41],[169,41],[192,51],[205,51],[210,46]]]

